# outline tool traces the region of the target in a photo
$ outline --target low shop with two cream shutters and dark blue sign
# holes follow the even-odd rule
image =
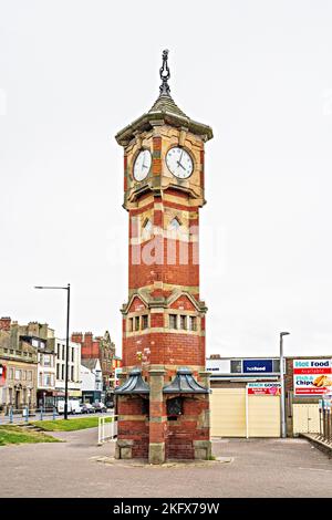
[[[212,437],[280,436],[280,361],[278,357],[214,355],[210,373]]]

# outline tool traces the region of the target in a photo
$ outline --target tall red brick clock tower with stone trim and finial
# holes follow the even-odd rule
[[[167,53],[158,100],[116,135],[129,214],[116,456],[153,464],[210,456],[198,212],[205,204],[204,144],[212,131],[170,97]]]

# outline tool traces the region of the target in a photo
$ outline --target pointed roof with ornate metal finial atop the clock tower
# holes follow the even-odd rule
[[[156,100],[152,108],[134,121],[131,125],[123,128],[115,136],[117,143],[122,146],[126,146],[136,132],[144,132],[151,129],[154,124],[165,123],[177,127],[185,127],[194,134],[200,135],[205,141],[212,137],[212,129],[210,126],[197,123],[188,117],[174,102],[170,96],[170,89],[168,80],[170,72],[168,67],[168,51],[163,51],[163,65],[159,70],[162,85],[159,86],[159,97]]]

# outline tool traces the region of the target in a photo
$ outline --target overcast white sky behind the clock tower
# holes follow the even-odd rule
[[[332,354],[332,3],[0,0],[0,314],[110,330],[127,298],[114,135],[170,89],[214,128],[200,212],[207,353]]]

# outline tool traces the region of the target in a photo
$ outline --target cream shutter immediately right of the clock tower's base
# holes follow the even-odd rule
[[[214,388],[211,437],[246,437],[246,388]]]

